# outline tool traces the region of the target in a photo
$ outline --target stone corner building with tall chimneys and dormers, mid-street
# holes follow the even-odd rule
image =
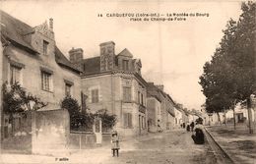
[[[117,116],[122,136],[147,132],[146,85],[142,64],[128,49],[115,53],[113,41],[99,45],[99,55],[83,59],[83,49],[71,49],[70,61],[83,70],[82,90],[90,112],[106,110]]]

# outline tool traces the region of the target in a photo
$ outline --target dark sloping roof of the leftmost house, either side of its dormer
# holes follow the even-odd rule
[[[7,13],[0,10],[1,15],[1,37],[4,36],[5,39],[10,41],[16,46],[20,46],[30,53],[38,54],[38,52],[32,47],[31,43],[25,40],[24,36],[26,34],[34,32],[33,27],[17,20],[16,18],[8,15]],[[62,67],[68,68],[75,72],[82,72],[80,69],[76,68],[55,46],[55,61]]]

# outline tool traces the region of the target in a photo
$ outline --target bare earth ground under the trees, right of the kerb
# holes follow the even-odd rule
[[[256,131],[249,134],[244,124],[237,125],[235,131],[233,125],[207,127],[207,130],[235,163],[256,164]]]

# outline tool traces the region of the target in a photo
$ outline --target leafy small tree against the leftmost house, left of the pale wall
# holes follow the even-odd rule
[[[8,88],[7,82],[3,84],[3,111],[10,115],[12,124],[12,133],[14,133],[14,115],[27,116],[29,111],[36,111],[45,107],[47,103],[41,101],[38,97],[28,93],[18,82]]]

